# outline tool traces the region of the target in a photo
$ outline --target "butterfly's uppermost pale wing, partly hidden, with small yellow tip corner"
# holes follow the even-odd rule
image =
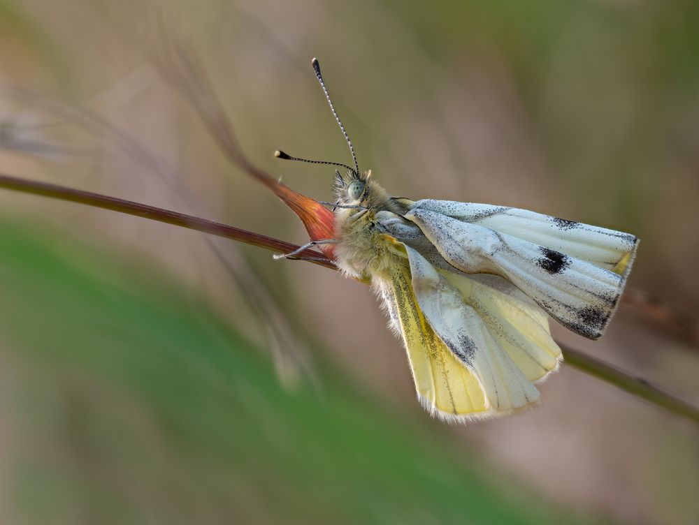
[[[638,244],[638,238],[628,233],[566,221],[526,209],[431,199],[417,201],[412,209],[436,212],[458,221],[507,233],[600,268],[614,270],[624,277],[630,271]],[[620,267],[620,263],[623,267]]]

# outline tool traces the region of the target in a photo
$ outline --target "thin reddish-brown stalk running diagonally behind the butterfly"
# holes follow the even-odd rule
[[[179,212],[110,197],[108,195],[101,195],[99,193],[67,188],[57,184],[36,182],[0,174],[0,188],[20,191],[22,193],[31,193],[32,195],[42,195],[44,197],[66,200],[69,202],[78,202],[92,207],[110,209],[113,212],[135,215],[153,221],[181,226],[182,228],[189,228],[190,230],[218,235],[219,237],[252,244],[253,246],[258,246],[277,253],[288,253],[298,249],[296,244],[291,244],[273,237],[267,237],[266,235],[260,235],[259,233],[241,230],[240,228],[234,228],[233,226],[210,221],[208,219],[201,219],[200,217],[181,214]],[[310,260],[310,263],[336,269],[331,259],[324,256],[324,254],[319,251],[308,249],[303,251],[301,255],[315,259]],[[652,385],[644,378],[627,374],[616,367],[612,367],[610,364],[598,360],[596,357],[586,355],[579,350],[575,350],[575,348],[570,348],[570,346],[561,346],[561,348],[563,349],[565,362],[570,366],[575,367],[585,374],[598,378],[605,383],[614,385],[625,392],[649,401],[651,404],[659,406],[670,413],[686,417],[699,424],[699,408],[668,394]]]

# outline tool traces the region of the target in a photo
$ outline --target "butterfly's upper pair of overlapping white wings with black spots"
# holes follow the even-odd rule
[[[613,232],[617,234],[614,237],[612,230],[594,234],[585,230],[586,236],[579,237],[566,238],[561,233],[565,243],[556,244],[553,231],[543,227],[540,230],[546,235],[523,228],[524,232],[516,237],[484,225],[501,225],[496,222],[498,216],[510,209],[473,205],[475,208],[466,215],[464,210],[469,206],[418,201],[404,217],[420,228],[449,265],[467,274],[502,276],[568,329],[590,339],[600,337],[624,290],[637,238],[621,232]],[[509,217],[508,221],[514,220]],[[512,226],[505,225],[505,229],[511,231]],[[538,238],[548,246],[523,237]]]

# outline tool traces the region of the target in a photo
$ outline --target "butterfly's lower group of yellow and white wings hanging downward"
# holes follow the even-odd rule
[[[444,419],[463,420],[507,415],[538,404],[540,394],[530,378],[540,379],[555,369],[560,356],[550,336],[542,348],[552,353],[533,348],[547,334],[540,324],[546,320],[540,312],[527,321],[524,312],[538,307],[475,281],[469,292],[477,306],[471,306],[417,251],[408,246],[401,250],[410,267],[394,265],[389,279],[375,283],[405,343],[423,406]],[[526,330],[528,322],[536,330],[527,343],[517,332]]]

